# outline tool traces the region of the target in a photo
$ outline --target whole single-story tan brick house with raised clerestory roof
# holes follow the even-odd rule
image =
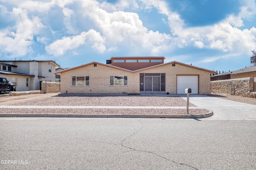
[[[61,93],[210,94],[215,72],[164,57],[112,57],[107,64],[92,62],[56,72]]]

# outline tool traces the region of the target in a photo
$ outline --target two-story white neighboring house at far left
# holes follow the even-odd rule
[[[55,82],[55,61],[0,61],[0,77],[16,85],[17,91],[39,90],[40,81]]]

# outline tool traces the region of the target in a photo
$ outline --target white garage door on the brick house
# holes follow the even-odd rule
[[[198,94],[198,76],[177,76],[177,94],[185,94],[191,88],[191,94]]]

